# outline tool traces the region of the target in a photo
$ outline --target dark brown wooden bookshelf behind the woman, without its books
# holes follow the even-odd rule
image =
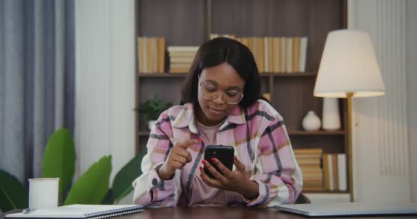
[[[339,99],[341,130],[303,131],[301,127],[309,110],[322,118],[322,99],[313,96],[315,77],[327,33],[346,28],[346,10],[346,0],[139,0],[136,37],[163,37],[167,46],[199,46],[211,33],[237,37],[307,36],[306,71],[262,73],[261,92],[270,93],[273,107],[285,120],[294,149],[321,148],[323,153],[345,153],[347,157],[350,136],[346,100]],[[136,105],[153,95],[174,105],[179,103],[186,73],[139,73],[137,69],[136,63]],[[147,124],[136,112],[136,153],[145,150],[148,136]],[[350,176],[347,178],[349,185]]]

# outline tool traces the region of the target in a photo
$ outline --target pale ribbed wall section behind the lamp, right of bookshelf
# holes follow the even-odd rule
[[[410,201],[406,1],[348,1],[348,27],[370,33],[385,96],[353,101],[355,201]]]

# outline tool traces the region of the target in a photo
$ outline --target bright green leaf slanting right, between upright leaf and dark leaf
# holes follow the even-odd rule
[[[69,191],[64,205],[102,203],[108,191],[111,158],[111,155],[104,156],[88,168]]]

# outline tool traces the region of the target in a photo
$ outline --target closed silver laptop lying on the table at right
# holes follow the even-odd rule
[[[277,205],[275,209],[305,216],[416,214],[417,203],[311,203]]]

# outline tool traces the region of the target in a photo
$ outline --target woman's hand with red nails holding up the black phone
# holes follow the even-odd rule
[[[204,172],[203,168],[200,167],[201,178],[208,186],[213,188],[218,188],[220,190],[228,190],[232,192],[237,192],[243,195],[245,198],[252,200],[259,196],[259,185],[258,183],[251,181],[249,179],[249,175],[245,171],[245,166],[239,162],[237,157],[235,157],[235,171],[231,171],[226,166],[219,162],[218,159],[212,158],[212,162],[216,164],[222,173],[217,171],[210,163],[206,162],[205,160],[202,161],[203,165],[206,166],[208,171],[216,177],[213,179],[208,177]]]

